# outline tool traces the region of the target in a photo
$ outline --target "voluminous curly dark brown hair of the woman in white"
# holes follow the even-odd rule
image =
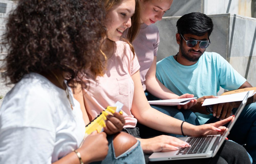
[[[104,4],[98,0],[18,1],[3,35],[8,51],[3,76],[17,83],[30,72],[61,70],[69,72],[71,84],[85,69],[103,74],[104,20]]]

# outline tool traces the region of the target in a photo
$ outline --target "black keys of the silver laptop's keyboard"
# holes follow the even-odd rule
[[[196,154],[205,153],[214,136],[189,137],[186,141],[191,147],[181,148],[176,155],[179,154]]]

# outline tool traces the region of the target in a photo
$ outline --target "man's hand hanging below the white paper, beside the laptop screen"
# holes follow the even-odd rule
[[[212,114],[220,120],[227,118],[231,115],[232,109],[236,105],[236,102],[214,104]],[[222,114],[221,114],[222,113]]]

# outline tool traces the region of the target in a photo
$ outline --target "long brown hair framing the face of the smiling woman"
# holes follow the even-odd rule
[[[106,9],[106,12],[108,12],[115,5],[120,5],[125,0],[103,0],[103,1],[104,1],[104,6]],[[135,37],[137,36],[139,28],[140,28],[140,0],[135,0],[135,12],[134,12],[133,16],[131,17],[131,23],[132,23],[132,26],[130,28],[128,28],[127,37],[124,41],[126,41],[130,45],[130,48],[131,48],[133,54],[135,55],[135,51],[132,46],[132,42],[135,39]]]

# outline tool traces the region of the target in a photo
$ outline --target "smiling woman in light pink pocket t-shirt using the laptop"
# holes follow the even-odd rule
[[[141,139],[138,129],[135,128],[137,121],[166,133],[188,136],[222,134],[226,129],[222,125],[228,123],[231,117],[213,124],[195,126],[167,116],[148,104],[140,80],[140,66],[135,53],[132,51],[133,48],[129,44],[132,41],[129,37],[130,34],[136,34],[136,28],[134,31],[131,27],[131,22],[136,24],[138,14],[131,7],[131,4],[135,4],[135,2],[137,1],[120,0],[120,3],[117,4],[105,4],[107,38],[102,42],[101,49],[105,58],[101,62],[106,65],[106,69],[102,76],[97,77],[96,81],[84,78],[85,81],[89,80],[90,82],[88,84],[89,90],[82,90],[82,94],[80,92],[75,95],[81,106],[86,109],[84,115],[88,116],[88,121],[91,121],[106,106],[114,105],[116,101],[124,103],[122,108],[125,118],[123,130],[141,141],[144,153],[178,150],[179,147],[190,145],[178,138],[165,135]],[[119,41],[123,31],[128,27],[131,27],[128,41]],[[115,127],[109,126],[112,126],[112,133],[114,133]]]

